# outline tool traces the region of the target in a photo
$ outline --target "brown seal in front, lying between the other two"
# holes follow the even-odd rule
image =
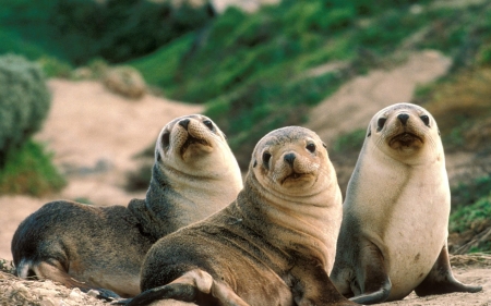
[[[255,146],[237,200],[152,246],[142,293],[125,305],[357,305],[328,278],[342,209],[319,136],[275,130]]]

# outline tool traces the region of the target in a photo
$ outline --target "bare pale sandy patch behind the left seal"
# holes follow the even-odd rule
[[[19,223],[52,199],[85,199],[98,206],[127,205],[144,193],[122,189],[133,158],[155,143],[161,127],[176,117],[199,113],[201,106],[146,95],[141,100],[111,94],[97,82],[52,79],[50,113],[35,135],[55,152],[68,186],[48,198],[0,197],[0,258],[12,259],[10,242]]]

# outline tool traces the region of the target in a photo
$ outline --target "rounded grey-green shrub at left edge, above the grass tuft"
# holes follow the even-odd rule
[[[51,103],[39,66],[17,56],[0,57],[0,169],[45,120]]]

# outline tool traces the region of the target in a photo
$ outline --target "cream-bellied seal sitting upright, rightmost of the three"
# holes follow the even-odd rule
[[[331,279],[360,304],[477,292],[448,261],[450,187],[433,117],[397,103],[371,120],[348,183]]]

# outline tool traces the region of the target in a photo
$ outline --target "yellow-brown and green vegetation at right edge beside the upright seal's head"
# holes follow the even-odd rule
[[[435,118],[446,150],[489,151],[491,68],[474,64],[420,90],[417,101]],[[479,148],[478,148],[479,147]]]

